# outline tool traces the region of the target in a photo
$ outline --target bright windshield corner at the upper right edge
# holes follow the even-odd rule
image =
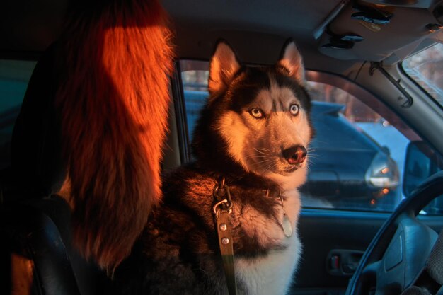
[[[402,63],[406,74],[443,105],[443,44],[428,47]]]

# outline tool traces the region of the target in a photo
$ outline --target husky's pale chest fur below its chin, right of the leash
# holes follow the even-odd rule
[[[284,236],[280,225],[270,224],[263,216],[253,215],[253,212],[243,214],[242,226],[251,226],[263,243],[272,239],[280,241],[284,248],[282,250],[270,250],[267,255],[260,258],[236,258],[236,277],[244,284],[250,295],[284,295],[292,283],[292,277],[297,268],[301,254],[301,243],[297,233],[297,221],[299,216],[300,201],[297,191],[285,195],[284,202],[286,213],[292,224],[293,234],[287,238]],[[280,221],[283,219],[281,210]],[[246,223],[246,224],[245,224]]]

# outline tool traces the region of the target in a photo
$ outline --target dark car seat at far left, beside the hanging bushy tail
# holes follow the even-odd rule
[[[69,204],[53,195],[65,177],[55,59],[52,46],[35,66],[13,130],[11,168],[0,175],[0,294],[110,293],[110,279],[73,248]]]

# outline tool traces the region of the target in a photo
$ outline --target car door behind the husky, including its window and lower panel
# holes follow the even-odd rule
[[[187,126],[192,129],[207,93],[207,62],[181,61]],[[316,137],[309,175],[300,188],[298,233],[303,255],[290,294],[344,294],[359,259],[404,195],[403,170],[413,129],[369,91],[341,76],[307,71]],[[427,217],[424,217],[425,219]],[[439,229],[441,220],[427,220]]]

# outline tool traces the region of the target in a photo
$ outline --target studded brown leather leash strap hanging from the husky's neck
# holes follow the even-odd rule
[[[231,220],[229,214],[232,212],[231,192],[229,187],[221,178],[214,187],[213,195],[216,200],[223,197],[222,201],[214,205],[213,213],[217,223],[217,237],[222,254],[224,276],[229,295],[237,294],[236,275],[234,270],[234,240],[232,239]]]

